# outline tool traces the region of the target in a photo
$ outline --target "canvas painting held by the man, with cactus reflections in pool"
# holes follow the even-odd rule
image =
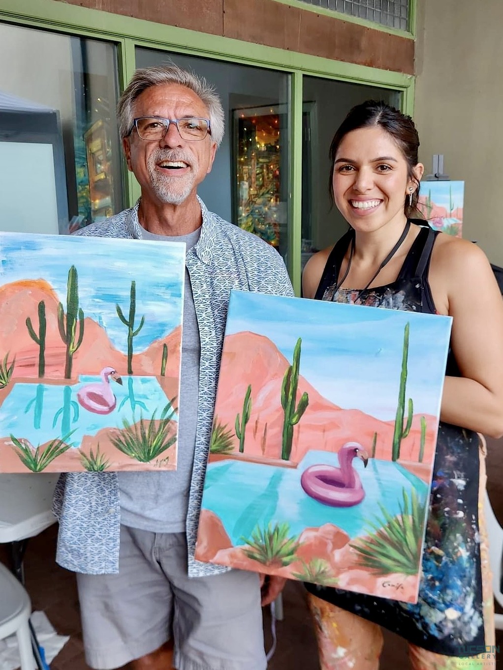
[[[0,232],[0,472],[174,470],[185,245]]]

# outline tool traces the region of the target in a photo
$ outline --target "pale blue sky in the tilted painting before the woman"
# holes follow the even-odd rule
[[[225,334],[264,335],[290,362],[302,338],[300,374],[321,395],[388,421],[396,413],[407,322],[406,394],[414,413],[437,415],[450,317],[232,291]]]

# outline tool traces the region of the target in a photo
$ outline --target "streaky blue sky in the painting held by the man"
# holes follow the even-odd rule
[[[185,245],[98,237],[0,233],[0,285],[19,279],[45,279],[66,310],[68,270],[78,272],[79,305],[105,327],[117,349],[127,352],[131,281],[136,282],[135,352],[169,334],[182,321]]]

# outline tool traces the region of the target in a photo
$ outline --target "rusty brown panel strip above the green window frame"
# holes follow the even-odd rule
[[[276,0],[59,0],[280,49],[414,73],[414,42]]]

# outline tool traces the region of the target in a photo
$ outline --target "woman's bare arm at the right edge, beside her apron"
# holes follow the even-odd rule
[[[445,378],[441,419],[499,438],[503,299],[488,259],[476,245],[441,235],[429,280],[437,310],[453,317],[451,346],[463,375]]]

